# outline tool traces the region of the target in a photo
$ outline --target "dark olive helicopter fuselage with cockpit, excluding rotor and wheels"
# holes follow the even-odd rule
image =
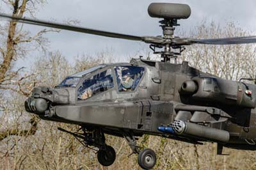
[[[101,127],[105,133],[118,136],[132,132],[189,143],[214,141],[230,148],[256,149],[253,84],[226,81],[200,72],[187,62],[175,65],[143,59],[100,65],[70,77],[66,82],[71,81],[72,86],[62,82],[49,89],[52,92],[35,89],[26,104],[27,111],[45,120]],[[190,81],[196,87],[189,85]],[[36,98],[47,101],[46,111],[36,111]],[[41,103],[44,102],[38,105]],[[228,141],[158,130],[175,120],[209,127],[210,132],[211,128],[227,131]]]

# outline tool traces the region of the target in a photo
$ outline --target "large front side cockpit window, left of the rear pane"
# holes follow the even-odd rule
[[[84,80],[77,90],[77,99],[86,100],[113,87],[113,75],[109,68]]]

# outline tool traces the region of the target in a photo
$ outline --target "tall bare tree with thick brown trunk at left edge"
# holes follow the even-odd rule
[[[25,13],[33,17],[36,13],[36,8],[45,3],[44,0],[2,0],[1,2],[10,8],[13,17],[24,17]],[[8,24],[0,24],[0,27],[0,99],[1,101],[13,101],[12,99],[17,98],[18,95],[28,96],[37,83],[31,79],[35,73],[25,73],[23,66],[15,68],[17,59],[24,58],[30,50],[38,47],[44,49],[48,42],[43,35],[54,30],[43,29],[35,35],[31,35],[29,31],[24,30],[22,24],[17,24],[14,20],[10,20]],[[24,98],[21,97],[20,99],[24,101]],[[1,102],[0,116],[10,116],[10,112],[15,112],[12,107],[12,103],[7,102],[4,104],[4,102]],[[0,132],[1,141],[10,135],[26,136],[35,134],[38,121],[35,116],[31,117],[28,121],[31,127],[28,130],[23,130],[19,121],[15,121],[9,129],[2,129],[2,132]]]

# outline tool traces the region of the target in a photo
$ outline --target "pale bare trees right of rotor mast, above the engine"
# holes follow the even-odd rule
[[[228,22],[220,27],[216,22],[209,25],[204,21],[191,35],[196,38],[223,38],[232,36],[246,36],[248,31],[237,27],[234,22]],[[190,65],[212,73],[218,77],[239,80],[241,77],[255,77],[255,45],[191,45],[183,53],[182,59]]]

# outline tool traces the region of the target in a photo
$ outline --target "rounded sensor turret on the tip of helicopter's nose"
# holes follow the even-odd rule
[[[44,98],[32,98],[29,97],[24,103],[27,112],[33,112],[36,114],[44,114],[49,105]]]

